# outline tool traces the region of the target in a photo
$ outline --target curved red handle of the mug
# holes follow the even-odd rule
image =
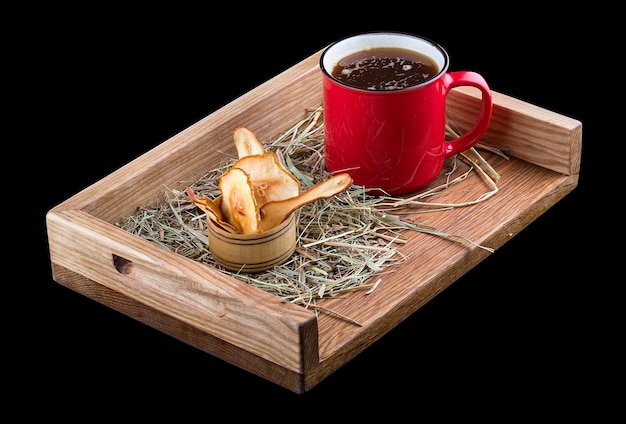
[[[448,72],[444,75],[446,95],[448,95],[450,90],[454,87],[463,85],[476,87],[480,90],[482,94],[480,113],[472,128],[458,138],[446,140],[444,143],[444,154],[446,158],[457,153],[461,153],[478,143],[487,132],[487,128],[489,127],[489,123],[491,121],[493,99],[491,96],[491,89],[482,75],[472,71],[455,71]]]

